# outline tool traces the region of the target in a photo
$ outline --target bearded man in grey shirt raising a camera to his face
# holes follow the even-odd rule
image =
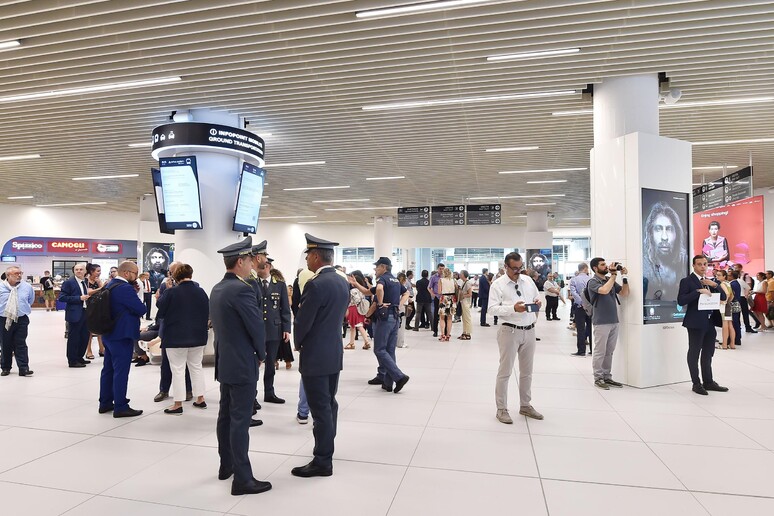
[[[610,390],[610,387],[623,387],[623,384],[613,380],[613,352],[618,342],[618,295],[629,295],[629,280],[626,267],[613,262],[610,267],[604,258],[591,260],[591,270],[594,277],[588,282],[589,301],[593,307],[591,322],[594,325],[594,351],[592,367],[594,368],[594,385],[600,389]],[[618,273],[624,275],[623,286],[616,283]]]

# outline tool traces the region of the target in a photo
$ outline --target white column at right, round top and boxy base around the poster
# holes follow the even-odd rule
[[[594,88],[591,252],[629,270],[613,375],[635,387],[688,380],[681,323],[643,324],[642,189],[691,191],[691,144],[658,135],[658,104],[656,74],[605,79]]]

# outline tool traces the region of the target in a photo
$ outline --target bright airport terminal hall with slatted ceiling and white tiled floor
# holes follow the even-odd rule
[[[774,514],[772,27],[764,0],[0,0],[0,512]],[[81,263],[107,284],[136,262],[144,329],[173,260],[210,294],[218,250],[246,236],[288,286],[306,251],[323,255],[316,239],[347,274],[383,274],[386,257],[416,285],[444,264],[476,294],[487,271],[490,289],[519,277],[516,252],[539,311],[487,315],[461,280],[470,333],[401,330],[400,392],[368,383],[385,344],[360,334],[343,349],[331,476],[291,473],[318,460],[299,352],[276,364],[283,404],[265,402],[263,364],[249,459],[272,487],[234,495],[218,479],[217,328],[206,409],[154,400],[161,350],[142,341],[127,397],[143,413],[114,417],[97,340],[73,361],[73,302],[58,298]],[[592,353],[613,324],[586,351],[579,317],[601,309],[570,288],[596,257],[629,289],[605,308],[620,321],[612,377]],[[709,282],[697,259],[718,286],[688,301],[681,279]],[[22,287],[26,366],[8,344]],[[702,313],[716,383],[702,369],[692,384],[684,325]],[[378,317],[369,331],[394,321]],[[507,384],[511,422],[495,399],[506,334],[534,344]]]

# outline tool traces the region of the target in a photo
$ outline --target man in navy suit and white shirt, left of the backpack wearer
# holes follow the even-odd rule
[[[89,329],[86,327],[86,300],[89,299],[86,285],[86,264],[73,266],[73,276],[62,283],[59,301],[66,303],[65,321],[69,325],[67,332],[67,364],[69,367],[86,367],[91,361],[84,360],[89,344]]]

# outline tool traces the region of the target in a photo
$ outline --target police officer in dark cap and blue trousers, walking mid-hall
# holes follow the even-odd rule
[[[379,362],[376,377],[368,381],[370,385],[381,384],[387,392],[400,392],[409,381],[408,375],[398,368],[395,359],[395,347],[398,343],[398,310],[408,299],[406,287],[392,275],[392,261],[386,256],[379,258],[374,265],[376,286],[369,291],[351,280],[353,287],[364,294],[376,295],[377,308],[371,316],[374,324],[374,355]],[[395,384],[393,388],[393,384]]]

